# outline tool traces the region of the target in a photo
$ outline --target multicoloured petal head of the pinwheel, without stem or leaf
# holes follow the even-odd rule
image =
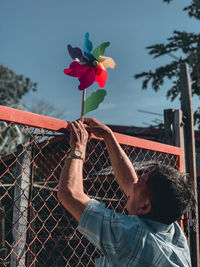
[[[107,68],[115,68],[116,64],[110,57],[103,56],[109,42],[102,43],[93,52],[92,42],[89,40],[89,33],[85,34],[83,53],[78,47],[73,48],[68,45],[68,51],[74,61],[69,69],[65,69],[66,75],[77,77],[80,81],[79,90],[84,90],[94,82],[103,88],[107,80]]]

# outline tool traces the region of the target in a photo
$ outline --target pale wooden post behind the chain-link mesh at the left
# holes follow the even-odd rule
[[[13,244],[10,256],[10,266],[26,266],[26,236],[28,203],[30,190],[30,149],[23,151],[23,146],[18,146],[19,155],[15,168],[14,205],[13,205]]]

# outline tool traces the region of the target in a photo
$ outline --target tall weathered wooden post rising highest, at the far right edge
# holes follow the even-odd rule
[[[194,119],[192,110],[192,89],[190,75],[187,64],[180,66],[181,82],[181,109],[184,116],[184,136],[185,136],[185,161],[186,172],[189,173],[193,184],[194,197],[197,205],[192,211],[192,229],[190,236],[190,248],[192,266],[199,267],[199,227],[198,227],[198,196],[197,196],[197,175],[196,175],[196,153],[194,137]]]

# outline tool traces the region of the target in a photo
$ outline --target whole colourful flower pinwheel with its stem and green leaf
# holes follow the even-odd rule
[[[68,51],[74,61],[70,64],[69,69],[65,69],[66,75],[77,77],[80,81],[79,90],[82,90],[82,106],[81,106],[81,120],[83,115],[98,108],[99,104],[103,102],[106,90],[99,89],[92,93],[85,100],[85,89],[92,85],[94,82],[103,88],[107,80],[107,68],[114,69],[116,64],[110,57],[103,56],[106,47],[110,45],[109,42],[102,43],[93,52],[92,42],[89,40],[89,33],[85,34],[83,45],[83,52],[78,47],[68,45]]]

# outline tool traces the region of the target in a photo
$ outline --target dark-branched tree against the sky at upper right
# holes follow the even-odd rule
[[[163,0],[170,3],[173,0]],[[200,0],[192,0],[189,6],[183,9],[189,17],[200,20]],[[167,43],[155,44],[146,47],[150,55],[158,58],[169,55],[172,61],[165,66],[155,69],[155,71],[145,71],[135,74],[134,77],[144,78],[142,89],[147,89],[151,82],[152,89],[161,89],[165,79],[172,81],[172,86],[167,92],[167,98],[173,101],[180,96],[179,66],[180,63],[188,63],[191,73],[192,94],[200,97],[200,34],[185,31],[174,31],[173,36],[167,39]],[[178,54],[179,52],[179,54]],[[194,112],[194,121],[200,129],[200,107]]]

